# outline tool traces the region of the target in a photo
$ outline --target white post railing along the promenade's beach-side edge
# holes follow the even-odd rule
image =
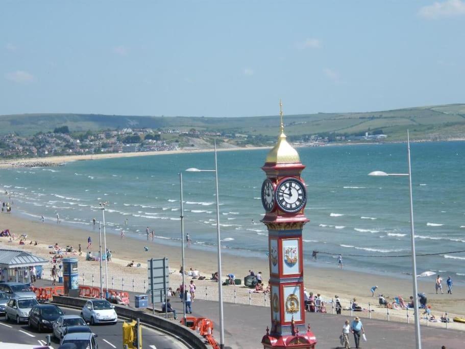
[[[51,268],[44,268],[42,271],[42,277],[47,278],[49,280],[52,279],[52,272]],[[105,275],[102,275],[102,282],[103,287],[105,287]],[[92,287],[99,287],[99,275],[94,275],[91,273],[80,273],[80,281],[83,285],[90,285]],[[129,284],[129,287],[128,287]],[[134,278],[128,280],[128,278],[124,277],[114,277],[113,275],[108,279],[108,286],[111,289],[118,289],[123,291],[132,291],[132,292],[141,292],[146,293],[148,292],[148,282],[143,280],[143,283],[137,283]],[[197,291],[195,292],[195,297],[204,300],[218,300],[218,288],[214,284],[214,286],[205,286],[205,287],[198,287]],[[256,293],[253,292],[253,289],[246,289],[241,286],[235,285],[228,285],[223,287],[223,299],[225,302],[234,303],[234,304],[248,304],[253,306],[262,306],[267,307],[270,305],[270,295],[268,293]],[[368,303],[368,304],[361,304],[357,303],[361,310],[354,310],[353,309],[353,302],[352,301],[343,301],[340,300],[341,304],[341,315],[345,316],[358,316],[364,318],[376,318],[381,320],[387,321],[397,321],[397,322],[414,322],[413,316],[413,309],[412,308],[398,308],[398,309],[389,309],[379,305],[379,302],[376,303]],[[392,303],[390,303],[392,305]],[[309,308],[307,306],[307,308]],[[314,310],[316,313],[326,312],[331,314],[336,314],[336,303],[334,299],[324,299],[322,300],[321,305],[314,306]],[[308,309],[307,309],[308,310]],[[450,322],[442,322],[440,316],[436,318],[436,321],[431,321],[430,315],[423,313],[425,309],[419,309],[421,312],[420,322],[422,324],[435,325],[435,326],[444,326],[444,328],[450,328],[450,322],[452,322],[452,318],[454,316],[459,316],[458,314],[449,314],[445,312],[446,318],[450,319]]]

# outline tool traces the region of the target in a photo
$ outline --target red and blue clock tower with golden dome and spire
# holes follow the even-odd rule
[[[307,190],[301,177],[305,168],[297,151],[286,141],[282,103],[278,143],[268,153],[261,189],[270,252],[271,327],[262,338],[264,348],[314,349],[315,335],[305,323],[302,229]]]

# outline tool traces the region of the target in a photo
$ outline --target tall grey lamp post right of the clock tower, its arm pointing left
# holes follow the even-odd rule
[[[386,173],[382,171],[370,172],[369,176],[406,176],[410,189],[410,242],[412,249],[412,278],[413,278],[413,309],[415,316],[415,342],[416,348],[422,348],[422,339],[420,332],[420,315],[418,310],[418,286],[417,286],[417,257],[415,255],[415,229],[413,226],[413,198],[412,198],[412,171],[410,163],[410,137],[407,130],[407,160],[408,173]]]

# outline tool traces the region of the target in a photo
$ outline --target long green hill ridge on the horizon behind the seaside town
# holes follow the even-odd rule
[[[195,128],[205,131],[270,136],[277,134],[276,115],[246,118],[156,117],[101,114],[15,114],[0,115],[0,134],[16,132],[32,135],[67,125],[72,132],[116,128]],[[465,138],[465,104],[448,104],[406,109],[285,115],[290,137],[336,132],[356,134],[382,130],[386,141],[405,139],[408,128],[412,139]]]

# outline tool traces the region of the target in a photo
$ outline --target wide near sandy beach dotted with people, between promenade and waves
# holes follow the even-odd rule
[[[27,244],[20,246],[19,239],[12,243],[8,242],[8,238],[0,238],[0,246],[4,248],[25,249],[31,251],[44,258],[51,259],[52,254],[48,248],[49,245],[58,243],[59,246],[65,247],[66,245],[73,246],[78,249],[81,244],[83,255],[80,257],[79,272],[80,282],[84,281],[86,284],[91,283],[92,274],[94,275],[94,285],[97,286],[99,280],[99,262],[85,261],[85,252],[87,246],[87,237],[92,239],[92,252],[99,250],[99,231],[98,228],[90,229],[76,229],[70,228],[60,224],[47,224],[40,221],[30,221],[15,215],[1,214],[0,226],[2,229],[10,229],[12,233],[18,238],[21,234],[28,234]],[[37,241],[38,246],[29,245],[30,241]],[[182,282],[181,275],[179,274],[179,266],[181,264],[181,248],[176,246],[167,246],[159,243],[155,239],[152,241],[131,239],[127,236],[121,240],[118,236],[113,234],[107,235],[107,247],[112,251],[112,262],[108,263],[109,268],[109,287],[111,287],[111,279],[113,279],[114,288],[121,289],[124,279],[125,290],[132,290],[133,280],[134,289],[138,292],[145,291],[144,280],[146,280],[146,262],[150,258],[163,258],[169,259],[170,272],[170,285],[176,289]],[[103,243],[102,243],[103,244]],[[144,246],[149,247],[149,251],[144,251]],[[65,256],[66,257],[66,256]],[[256,273],[262,271],[263,280],[268,280],[268,264],[267,261],[254,257],[236,257],[230,253],[223,253],[223,275],[233,273],[236,278],[243,279],[248,275],[249,269],[254,270]],[[130,268],[126,265],[134,261],[136,264],[140,263],[140,268]],[[214,250],[204,251],[192,247],[186,248],[186,270],[189,268],[196,268],[200,271],[201,275],[207,277],[216,271],[216,253]],[[45,276],[50,275],[50,266],[45,269]],[[47,275],[48,274],[48,275]],[[444,275],[447,278],[447,275]],[[190,277],[186,276],[186,283],[190,281]],[[339,270],[336,262],[334,268],[318,267],[318,263],[311,263],[305,267],[304,283],[309,292],[314,294],[321,293],[322,297],[331,300],[335,295],[338,295],[342,301],[343,307],[349,306],[349,301],[354,297],[363,308],[368,308],[371,303],[371,309],[374,309],[374,317],[386,317],[386,310],[378,308],[378,298],[371,297],[370,288],[377,285],[379,289],[377,293],[383,293],[385,296],[392,298],[402,295],[404,299],[408,300],[411,295],[411,281],[408,278],[396,278],[386,275],[375,275],[369,273],[354,272],[349,270]],[[210,280],[199,281],[196,280],[198,297],[205,299],[207,293],[208,299],[215,299],[217,295],[217,284]],[[267,283],[265,282],[265,285]],[[445,284],[445,283],[444,283]],[[207,288],[207,289],[206,289]],[[234,292],[235,290],[235,292]],[[427,281],[419,281],[420,292],[425,292],[428,297],[428,304],[432,307],[432,313],[436,317],[440,317],[442,313],[448,312],[449,317],[465,314],[465,289],[463,287],[455,286],[452,295],[446,293],[446,286],[444,286],[445,294],[435,294],[434,291],[434,275],[428,278]],[[263,294],[250,293],[249,289],[238,286],[228,286],[224,288],[225,301],[234,302],[234,293],[236,294],[236,301],[240,303],[250,303],[253,305],[269,305],[269,300]],[[250,297],[249,297],[250,295]],[[328,312],[331,312],[329,305]],[[368,314],[362,314],[368,316]],[[390,310],[391,320],[396,319],[398,316],[399,321],[406,321],[405,310]],[[410,312],[410,316],[412,316]],[[441,325],[439,323],[439,325]],[[442,324],[444,325],[444,324]],[[465,329],[465,325],[454,323],[454,328]]]

